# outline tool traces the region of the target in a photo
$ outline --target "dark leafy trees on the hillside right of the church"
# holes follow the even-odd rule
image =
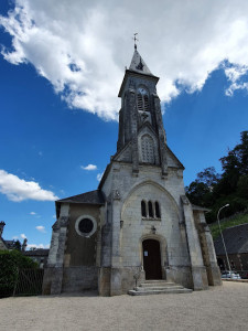
[[[227,156],[219,159],[223,173],[217,174],[214,167],[197,173],[186,190],[193,204],[209,207],[206,214],[208,223],[216,221],[216,214],[223,205],[229,207],[222,215],[230,216],[248,207],[248,131],[240,134],[240,143]]]

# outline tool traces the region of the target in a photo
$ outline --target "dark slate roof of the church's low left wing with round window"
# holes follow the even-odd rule
[[[68,203],[88,203],[88,204],[105,204],[105,199],[100,190],[89,191],[83,194],[73,195],[56,202],[68,202]]]

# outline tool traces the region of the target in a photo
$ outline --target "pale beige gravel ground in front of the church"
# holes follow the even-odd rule
[[[248,330],[248,284],[186,295],[7,298],[0,330]]]

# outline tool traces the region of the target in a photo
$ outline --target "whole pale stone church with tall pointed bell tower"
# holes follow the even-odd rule
[[[158,82],[134,46],[118,95],[117,152],[96,191],[56,201],[44,295],[222,284],[206,210],[185,196],[184,167],[166,143]]]

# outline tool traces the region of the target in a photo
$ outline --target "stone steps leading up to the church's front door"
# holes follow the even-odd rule
[[[130,296],[149,296],[149,295],[169,295],[169,293],[191,293],[192,289],[182,285],[166,280],[145,280],[133,290],[129,290]]]

